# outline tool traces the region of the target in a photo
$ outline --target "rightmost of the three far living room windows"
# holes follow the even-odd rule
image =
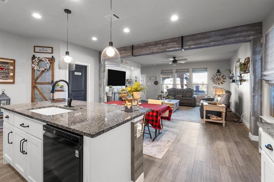
[[[194,95],[207,95],[207,68],[192,69],[192,87]]]

